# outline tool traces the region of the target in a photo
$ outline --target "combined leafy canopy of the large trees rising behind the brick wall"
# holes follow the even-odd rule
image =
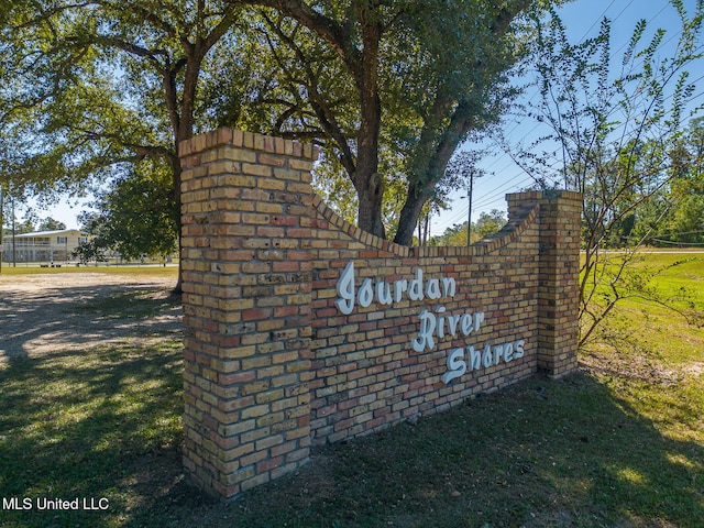
[[[148,158],[178,207],[178,143],[231,125],[318,143],[359,226],[409,244],[458,145],[501,114],[517,18],[546,3],[3,2],[2,177],[82,193]]]

